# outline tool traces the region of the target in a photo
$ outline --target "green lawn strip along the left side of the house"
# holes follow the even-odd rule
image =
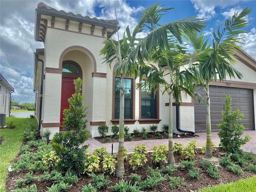
[[[8,167],[22,145],[22,132],[24,131],[24,124],[33,122],[37,124],[36,119],[31,118],[16,118],[6,117],[6,124],[14,121],[15,129],[0,129],[0,136],[4,141],[0,145],[0,191],[5,191],[5,180],[7,177]]]

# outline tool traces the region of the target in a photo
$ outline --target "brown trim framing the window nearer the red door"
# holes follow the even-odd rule
[[[113,80],[112,80],[112,120],[110,120],[112,122],[113,125],[119,124],[119,119],[115,119],[114,118],[114,113],[115,113],[115,81],[116,81],[116,77],[120,78],[118,76],[114,75],[115,69],[118,66],[118,63],[116,63],[114,65],[113,68]],[[124,78],[128,78],[126,76],[124,76]],[[132,79],[132,118],[128,118],[128,119],[124,119],[124,124],[134,124],[137,120],[135,119],[135,78],[134,76],[129,77],[128,79]]]

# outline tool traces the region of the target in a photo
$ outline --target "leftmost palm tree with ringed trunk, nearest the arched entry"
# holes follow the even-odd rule
[[[104,62],[108,63],[110,68],[112,62],[118,62],[118,67],[115,71],[116,76],[120,76],[120,115],[119,115],[119,142],[118,142],[118,163],[116,168],[116,176],[123,176],[124,171],[124,76],[137,77],[139,75],[138,65],[136,62],[125,61],[131,52],[136,48],[137,43],[141,39],[136,38],[136,35],[145,31],[146,26],[154,26],[158,23],[163,12],[167,12],[172,8],[164,8],[158,6],[158,3],[152,7],[146,8],[142,13],[142,18],[135,27],[133,33],[130,33],[129,26],[126,27],[123,38],[118,41],[106,38],[104,40],[104,48],[100,50],[100,54],[104,55]],[[154,13],[154,17],[149,17],[149,13]],[[151,14],[152,15],[152,14]]]

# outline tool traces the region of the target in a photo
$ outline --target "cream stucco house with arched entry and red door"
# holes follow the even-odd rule
[[[78,77],[84,81],[84,105],[89,105],[86,110],[89,120],[87,129],[92,137],[99,136],[98,126],[101,124],[109,126],[109,134],[111,126],[119,124],[120,78],[113,75],[118,64],[110,69],[108,64],[102,63],[102,56],[99,55],[104,46],[104,36],[115,34],[117,24],[116,20],[90,18],[59,11],[42,2],[38,4],[35,40],[43,42],[44,48],[36,49],[35,52],[34,91],[37,92],[36,118],[41,132],[46,128],[51,130],[52,135],[59,132],[64,118],[62,111],[68,108],[68,98],[74,93],[73,80]],[[246,129],[255,130],[256,60],[242,50],[237,50],[235,54],[238,57],[236,68],[244,74],[244,78],[218,82],[218,86],[213,83],[211,104],[220,105],[219,108],[213,108],[218,114],[217,123],[221,123],[223,96],[226,93],[236,96],[233,100],[237,100],[238,108],[241,112],[248,112],[244,118]],[[162,130],[162,125],[168,124],[168,95],[137,90],[135,85],[138,82],[134,78],[124,80],[125,124],[130,132],[142,127],[149,130],[152,124],[158,124],[158,130]],[[206,126],[202,126],[205,106],[201,105],[184,96],[180,105],[182,130],[206,130]],[[212,122],[216,124],[213,116]]]

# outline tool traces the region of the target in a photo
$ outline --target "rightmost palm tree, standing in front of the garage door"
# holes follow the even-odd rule
[[[241,30],[248,25],[248,20],[245,18],[252,10],[245,8],[240,14],[235,12],[232,19],[227,19],[220,24],[217,34],[214,31],[214,40],[212,44],[208,44],[208,39],[203,38],[203,33],[198,35],[196,33],[188,36],[188,40],[195,49],[195,55],[192,57],[190,65],[187,70],[194,76],[195,83],[201,84],[206,92],[206,158],[212,158],[212,138],[211,138],[211,119],[210,119],[210,95],[209,85],[211,81],[225,81],[226,76],[241,79],[242,74],[238,72],[233,64],[235,63],[232,57],[232,50],[239,48],[238,43],[241,43],[242,38],[238,36],[244,33]]]

